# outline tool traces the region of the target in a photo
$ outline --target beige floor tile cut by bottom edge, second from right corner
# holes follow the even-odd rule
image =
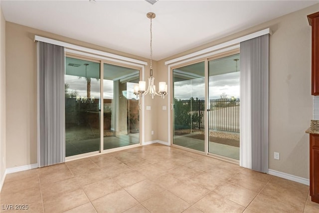
[[[302,213],[296,207],[282,203],[278,200],[268,198],[263,195],[258,195],[252,203],[247,207],[247,209],[252,210],[256,213],[265,213],[265,210],[269,213]]]

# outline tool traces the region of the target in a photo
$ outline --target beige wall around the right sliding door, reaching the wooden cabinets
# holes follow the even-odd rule
[[[276,18],[203,46],[158,61],[164,61],[270,27],[269,53],[269,169],[309,178],[309,135],[312,119],[311,26],[307,15],[319,4]],[[162,75],[166,77],[166,74]],[[159,123],[159,140],[167,141],[167,116]],[[163,127],[163,128],[161,128]],[[280,160],[274,160],[274,152]]]

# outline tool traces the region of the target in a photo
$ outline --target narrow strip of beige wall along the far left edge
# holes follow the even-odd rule
[[[1,5],[0,5],[0,100],[1,100],[1,104],[0,104],[0,183],[2,183],[2,178],[5,172],[5,19],[2,14]]]

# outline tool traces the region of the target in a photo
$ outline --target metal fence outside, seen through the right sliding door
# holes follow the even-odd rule
[[[190,100],[182,100],[183,104],[190,106]],[[192,128],[204,128],[204,100],[191,101],[191,117],[201,117],[191,122]],[[208,110],[208,128],[211,130],[220,130],[228,132],[240,131],[240,100],[239,99],[215,99],[210,100],[210,109]]]

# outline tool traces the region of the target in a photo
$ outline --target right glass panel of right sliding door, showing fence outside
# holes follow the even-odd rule
[[[239,54],[208,62],[208,152],[239,160]]]

